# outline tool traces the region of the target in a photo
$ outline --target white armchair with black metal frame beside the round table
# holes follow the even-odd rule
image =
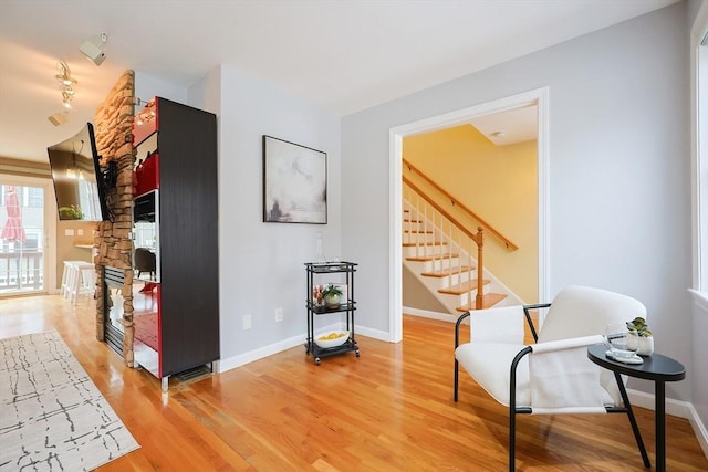
[[[549,308],[540,332],[530,311]],[[552,304],[477,310],[455,327],[455,401],[459,365],[497,401],[509,408],[509,470],[514,470],[516,416],[519,413],[623,412],[650,466],[625,390],[626,378],[587,359],[587,346],[602,343],[605,326],[636,316],[645,306],[626,295],[571,286]],[[470,319],[470,342],[460,344],[462,322]],[[524,318],[535,344],[524,345]]]

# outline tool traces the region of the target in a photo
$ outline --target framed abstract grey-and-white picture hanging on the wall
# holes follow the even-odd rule
[[[263,222],[327,222],[327,155],[263,135]]]

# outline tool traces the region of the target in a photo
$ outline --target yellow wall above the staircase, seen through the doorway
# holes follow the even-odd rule
[[[471,125],[410,136],[403,147],[404,159],[519,247],[486,233],[485,268],[524,303],[538,302],[537,147],[494,146]]]

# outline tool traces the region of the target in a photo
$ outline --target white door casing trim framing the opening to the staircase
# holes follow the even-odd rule
[[[407,136],[437,132],[468,124],[476,118],[535,106],[538,109],[538,300],[548,300],[548,87],[525,92],[469,108],[398,126],[389,135],[389,340],[403,338],[403,140]]]

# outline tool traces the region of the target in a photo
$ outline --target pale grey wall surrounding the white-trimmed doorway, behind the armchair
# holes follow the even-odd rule
[[[677,3],[344,117],[342,247],[361,263],[357,322],[388,331],[389,129],[549,86],[550,293],[586,284],[644,302],[657,350],[689,373],[667,395],[689,400],[685,10]],[[642,381],[631,387],[653,391]]]

